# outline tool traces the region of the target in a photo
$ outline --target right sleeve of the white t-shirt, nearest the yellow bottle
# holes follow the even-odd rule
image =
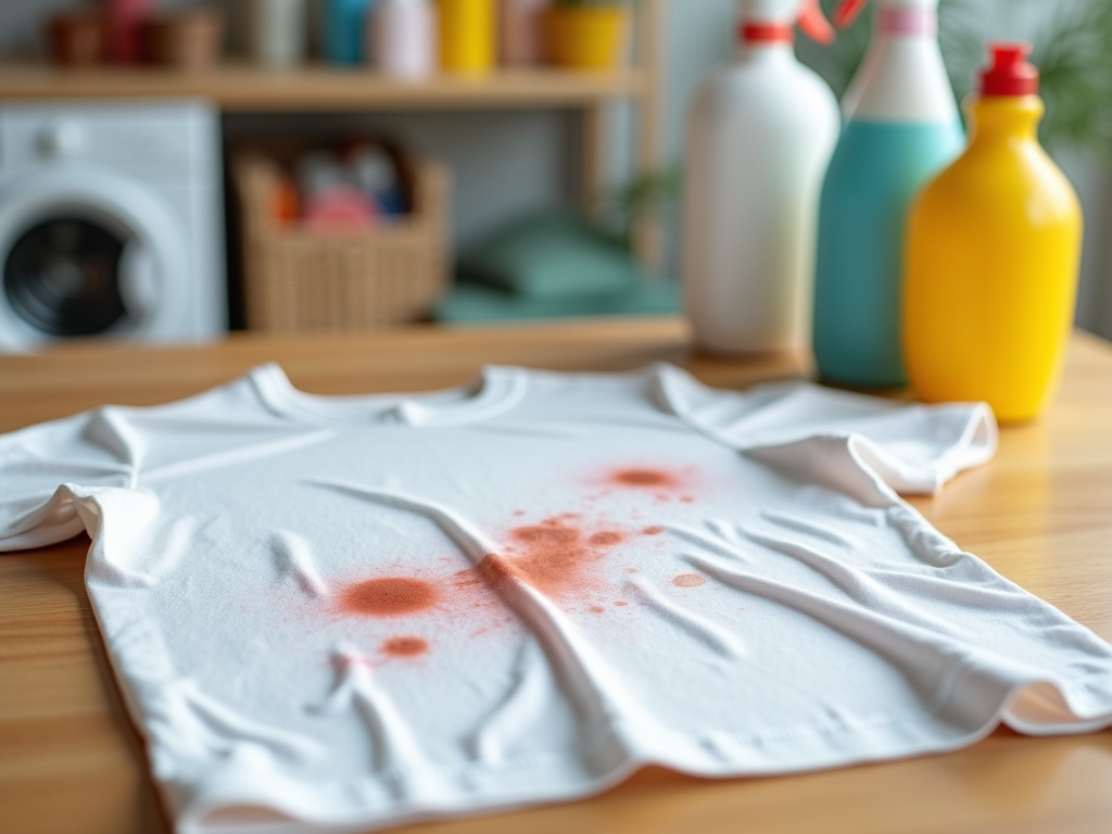
[[[661,383],[664,399],[681,419],[737,449],[852,438],[862,463],[904,494],[936,493],[996,450],[996,421],[984,403],[925,406],[810,383],[728,391],[675,368],[666,368]]]

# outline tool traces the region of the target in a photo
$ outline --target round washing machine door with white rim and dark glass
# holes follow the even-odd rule
[[[0,187],[0,348],[76,336],[157,338],[186,315],[180,221],[150,187],[56,163]]]

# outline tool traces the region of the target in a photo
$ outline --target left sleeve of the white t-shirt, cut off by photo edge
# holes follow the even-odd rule
[[[135,453],[111,407],[0,436],[0,552],[79,534],[72,489],[131,486]]]

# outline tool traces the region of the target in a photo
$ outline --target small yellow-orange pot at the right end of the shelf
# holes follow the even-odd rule
[[[566,69],[615,69],[624,58],[628,26],[622,4],[550,6],[544,18],[548,59]]]

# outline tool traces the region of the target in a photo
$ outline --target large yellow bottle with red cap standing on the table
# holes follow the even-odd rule
[[[907,377],[924,400],[985,400],[1001,421],[1037,417],[1073,320],[1081,208],[1039,145],[1039,71],[1026,43],[990,44],[966,100],[965,152],[909,217]]]

